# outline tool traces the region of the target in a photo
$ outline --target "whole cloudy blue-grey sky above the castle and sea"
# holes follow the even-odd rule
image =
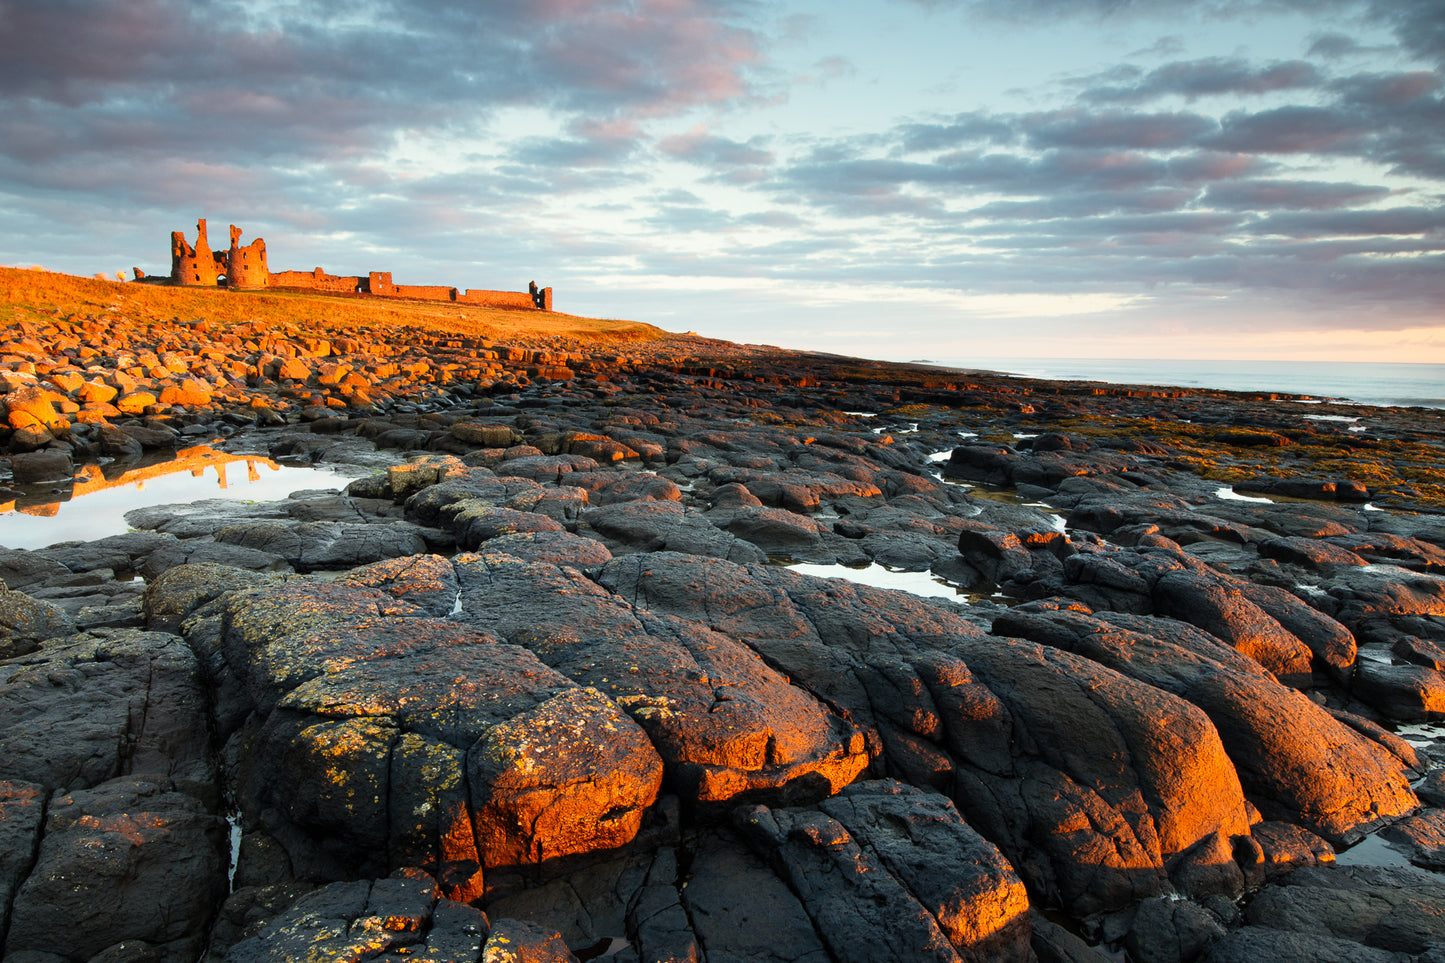
[[[1442,0],[0,0],[0,265],[880,359],[1445,363]]]

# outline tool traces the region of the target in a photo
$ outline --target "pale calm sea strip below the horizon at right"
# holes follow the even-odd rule
[[[905,359],[899,359],[905,360]],[[906,359],[1059,382],[1282,392],[1357,405],[1445,408],[1445,364],[1384,361],[1195,361],[1064,357]]]

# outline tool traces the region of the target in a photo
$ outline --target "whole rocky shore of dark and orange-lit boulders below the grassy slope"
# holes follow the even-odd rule
[[[1445,412],[25,317],[6,960],[1445,962]]]

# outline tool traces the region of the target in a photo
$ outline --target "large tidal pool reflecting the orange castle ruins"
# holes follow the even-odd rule
[[[340,490],[351,482],[329,467],[288,466],[198,445],[165,461],[84,466],[75,482],[29,487],[0,502],[0,547],[45,548],[130,531],[126,512],[150,505],[238,499],[275,502],[303,489]]]

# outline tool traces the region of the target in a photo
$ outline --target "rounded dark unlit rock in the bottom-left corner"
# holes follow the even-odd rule
[[[195,960],[225,892],[224,840],[224,820],[166,781],[118,778],[52,800],[6,954],[87,959],[136,940],[159,960]]]

